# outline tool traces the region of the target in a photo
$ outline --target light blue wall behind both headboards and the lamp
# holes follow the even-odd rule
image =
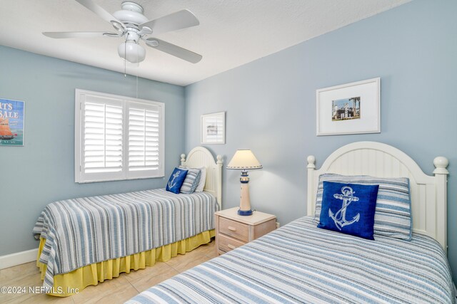
[[[398,147],[427,174],[448,157],[448,256],[457,278],[457,1],[415,0],[186,87],[186,150],[200,115],[226,111],[229,161],[251,149],[253,208],[286,224],[306,214],[306,156],[317,165],[349,142]],[[271,41],[274,43],[274,39]],[[316,89],[381,77],[381,134],[316,137]],[[239,172],[224,169],[224,208],[239,204]]]

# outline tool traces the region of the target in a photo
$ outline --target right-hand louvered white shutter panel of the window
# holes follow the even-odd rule
[[[131,176],[143,177],[161,167],[161,109],[155,105],[129,103],[129,157]]]

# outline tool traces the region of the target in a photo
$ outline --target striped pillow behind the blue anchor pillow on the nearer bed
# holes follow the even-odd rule
[[[374,215],[374,234],[411,241],[412,217],[409,179],[407,177],[383,178],[368,175],[344,176],[321,174],[316,195],[314,221],[321,216],[323,182],[351,184],[378,184],[378,198]]]

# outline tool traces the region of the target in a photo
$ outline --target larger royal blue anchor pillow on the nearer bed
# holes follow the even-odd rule
[[[374,211],[379,185],[323,182],[318,228],[374,240]]]

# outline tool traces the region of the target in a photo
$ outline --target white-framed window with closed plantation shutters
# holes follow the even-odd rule
[[[76,89],[75,181],[164,176],[164,103]]]

